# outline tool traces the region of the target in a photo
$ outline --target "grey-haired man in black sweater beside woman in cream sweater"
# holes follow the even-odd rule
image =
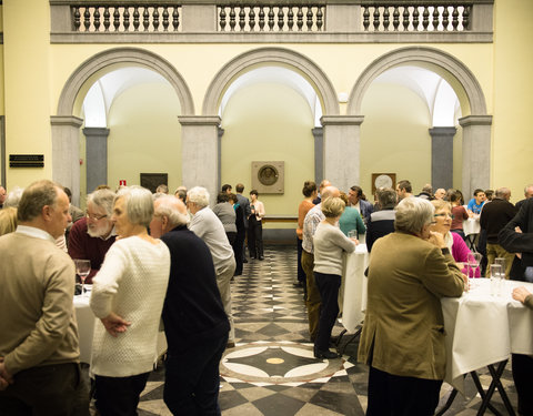
[[[174,415],[215,415],[230,324],[209,247],[187,229],[188,221],[179,199],[155,200],[150,231],[167,244],[171,257],[162,314],[169,344],[163,399]]]

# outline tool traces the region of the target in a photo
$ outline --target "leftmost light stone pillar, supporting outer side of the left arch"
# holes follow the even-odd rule
[[[52,115],[52,180],[72,191],[72,204],[80,203],[80,128],[74,115]],[[46,163],[46,162],[44,162]]]

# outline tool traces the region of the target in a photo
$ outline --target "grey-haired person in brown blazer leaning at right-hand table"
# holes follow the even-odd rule
[[[433,214],[426,200],[402,200],[395,232],[372,247],[358,357],[370,365],[368,416],[429,416],[439,404],[446,366],[441,297],[461,296],[466,276],[442,235],[429,231]]]

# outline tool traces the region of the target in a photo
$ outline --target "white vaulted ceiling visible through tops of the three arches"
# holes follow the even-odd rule
[[[86,126],[105,128],[109,109],[118,95],[132,85],[154,82],[168,83],[162,75],[139,67],[121,68],[101,77],[83,100]],[[456,124],[460,116],[459,99],[450,84],[439,74],[418,67],[399,67],[382,73],[374,82],[404,85],[419,94],[428,105],[433,126]],[[308,102],[314,114],[315,125],[320,125],[322,108],[316,92],[299,73],[281,67],[262,67],[239,77],[225,91],[219,114],[223,113],[235,91],[254,83],[282,83],[293,89]],[[341,92],[340,95],[346,95],[346,92]]]

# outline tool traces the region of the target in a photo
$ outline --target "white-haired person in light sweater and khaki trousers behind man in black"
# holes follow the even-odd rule
[[[208,245],[213,257],[217,273],[217,284],[224,305],[225,314],[230,319],[231,331],[228,347],[235,345],[235,327],[231,312],[231,277],[235,272],[235,257],[224,226],[209,205],[209,192],[205,187],[195,186],[187,193],[187,207],[192,214],[189,230],[197,234]]]

